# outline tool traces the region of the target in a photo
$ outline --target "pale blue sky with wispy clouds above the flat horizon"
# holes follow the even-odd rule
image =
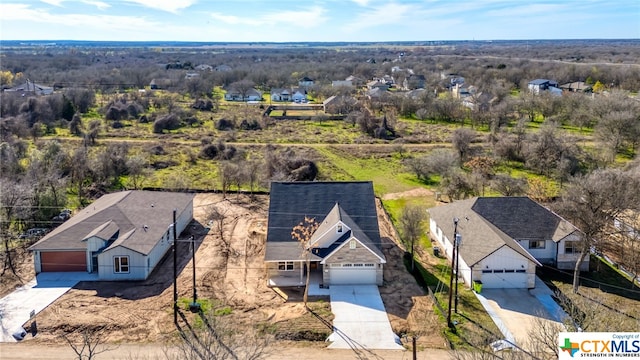
[[[639,38],[640,0],[0,0],[0,40]]]

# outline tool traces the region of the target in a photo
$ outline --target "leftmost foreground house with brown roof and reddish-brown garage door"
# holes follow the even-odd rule
[[[144,280],[193,219],[193,194],[107,194],[32,245],[36,273],[86,271],[100,280]]]

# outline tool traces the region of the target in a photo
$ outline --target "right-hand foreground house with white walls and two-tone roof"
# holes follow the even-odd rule
[[[536,266],[573,270],[582,233],[527,197],[479,197],[429,209],[431,238],[451,257],[458,219],[459,273],[467,285],[533,288]],[[585,257],[582,270],[589,269]]]

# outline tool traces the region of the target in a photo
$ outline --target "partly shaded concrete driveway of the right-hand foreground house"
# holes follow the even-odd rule
[[[534,289],[482,289],[476,297],[504,339],[528,349],[536,319],[562,325],[567,314],[551,298],[553,292],[538,278]],[[564,328],[564,327],[563,327]]]

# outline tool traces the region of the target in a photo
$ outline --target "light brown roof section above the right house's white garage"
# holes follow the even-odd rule
[[[523,257],[540,265],[514,238],[510,237],[497,225],[492,224],[474,210],[474,204],[476,204],[479,199],[489,198],[472,198],[429,209],[431,219],[438,224],[438,227],[442,229],[445,236],[449,239],[453,238],[453,219],[459,219],[458,233],[462,236],[462,245],[460,245],[459,251],[460,256],[467,265],[473,266],[477,264],[504,246],[513,249]],[[488,206],[492,204],[493,203],[484,203],[482,205]],[[497,211],[499,211],[499,209]],[[508,215],[507,212],[505,212],[505,214]]]

